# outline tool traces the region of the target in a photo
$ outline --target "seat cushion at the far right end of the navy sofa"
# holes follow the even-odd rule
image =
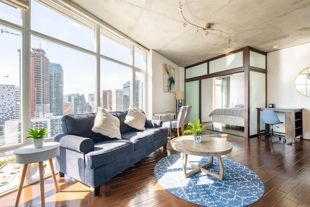
[[[135,144],[135,150],[153,142],[153,132],[151,131],[129,131],[122,134],[123,140],[129,140]]]

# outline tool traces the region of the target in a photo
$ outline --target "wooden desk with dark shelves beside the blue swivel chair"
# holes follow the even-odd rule
[[[261,111],[273,110],[275,112],[285,113],[285,138],[292,138],[295,143],[295,137],[302,139],[302,110],[301,108],[257,108],[257,135],[261,133]]]

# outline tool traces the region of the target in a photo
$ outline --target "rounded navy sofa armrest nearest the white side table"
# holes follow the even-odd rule
[[[86,137],[60,133],[54,137],[54,142],[60,143],[63,148],[81,152],[83,154],[94,150],[93,140]]]

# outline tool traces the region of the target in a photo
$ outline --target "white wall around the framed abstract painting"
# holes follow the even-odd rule
[[[185,69],[172,63],[167,58],[161,56],[154,50],[147,55],[148,63],[148,91],[147,95],[147,117],[159,119],[153,116],[154,113],[164,111],[175,111],[175,93],[163,92],[163,64],[168,64],[175,69],[175,91],[184,91],[185,89]],[[168,121],[168,117],[162,117],[163,121]]]

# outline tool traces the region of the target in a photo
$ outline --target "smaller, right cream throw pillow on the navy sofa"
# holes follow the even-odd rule
[[[131,105],[129,106],[129,110],[124,121],[126,125],[139,130],[145,130],[145,120],[146,115],[144,113]]]

